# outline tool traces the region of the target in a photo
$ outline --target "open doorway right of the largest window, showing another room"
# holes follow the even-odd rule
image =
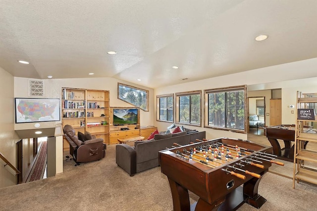
[[[265,96],[248,97],[248,133],[265,135]]]

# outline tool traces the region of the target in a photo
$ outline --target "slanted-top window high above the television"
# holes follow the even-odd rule
[[[149,111],[149,91],[118,83],[118,99]]]

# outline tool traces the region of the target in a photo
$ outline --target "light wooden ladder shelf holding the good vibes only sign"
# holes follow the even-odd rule
[[[308,142],[317,143],[316,107],[317,93],[297,92],[293,188],[295,181],[317,185],[317,151],[307,150],[305,147]],[[311,110],[311,115],[301,115],[299,109],[314,110]]]

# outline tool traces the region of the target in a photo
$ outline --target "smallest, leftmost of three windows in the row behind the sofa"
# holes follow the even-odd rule
[[[157,96],[157,121],[174,122],[174,95]]]

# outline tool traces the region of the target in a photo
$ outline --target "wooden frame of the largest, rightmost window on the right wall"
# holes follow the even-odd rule
[[[210,93],[225,93],[229,91],[244,91],[244,129],[237,129],[231,127],[217,127],[217,126],[210,126],[209,121],[209,99],[208,94]],[[204,127],[211,128],[211,129],[220,129],[220,130],[227,130],[227,131],[234,131],[239,133],[247,133],[247,85],[238,85],[238,86],[228,86],[228,87],[221,87],[221,88],[212,88],[212,89],[205,89],[204,90]],[[227,109],[227,105],[225,104],[225,110]],[[226,119],[226,111],[224,112],[225,119]]]

